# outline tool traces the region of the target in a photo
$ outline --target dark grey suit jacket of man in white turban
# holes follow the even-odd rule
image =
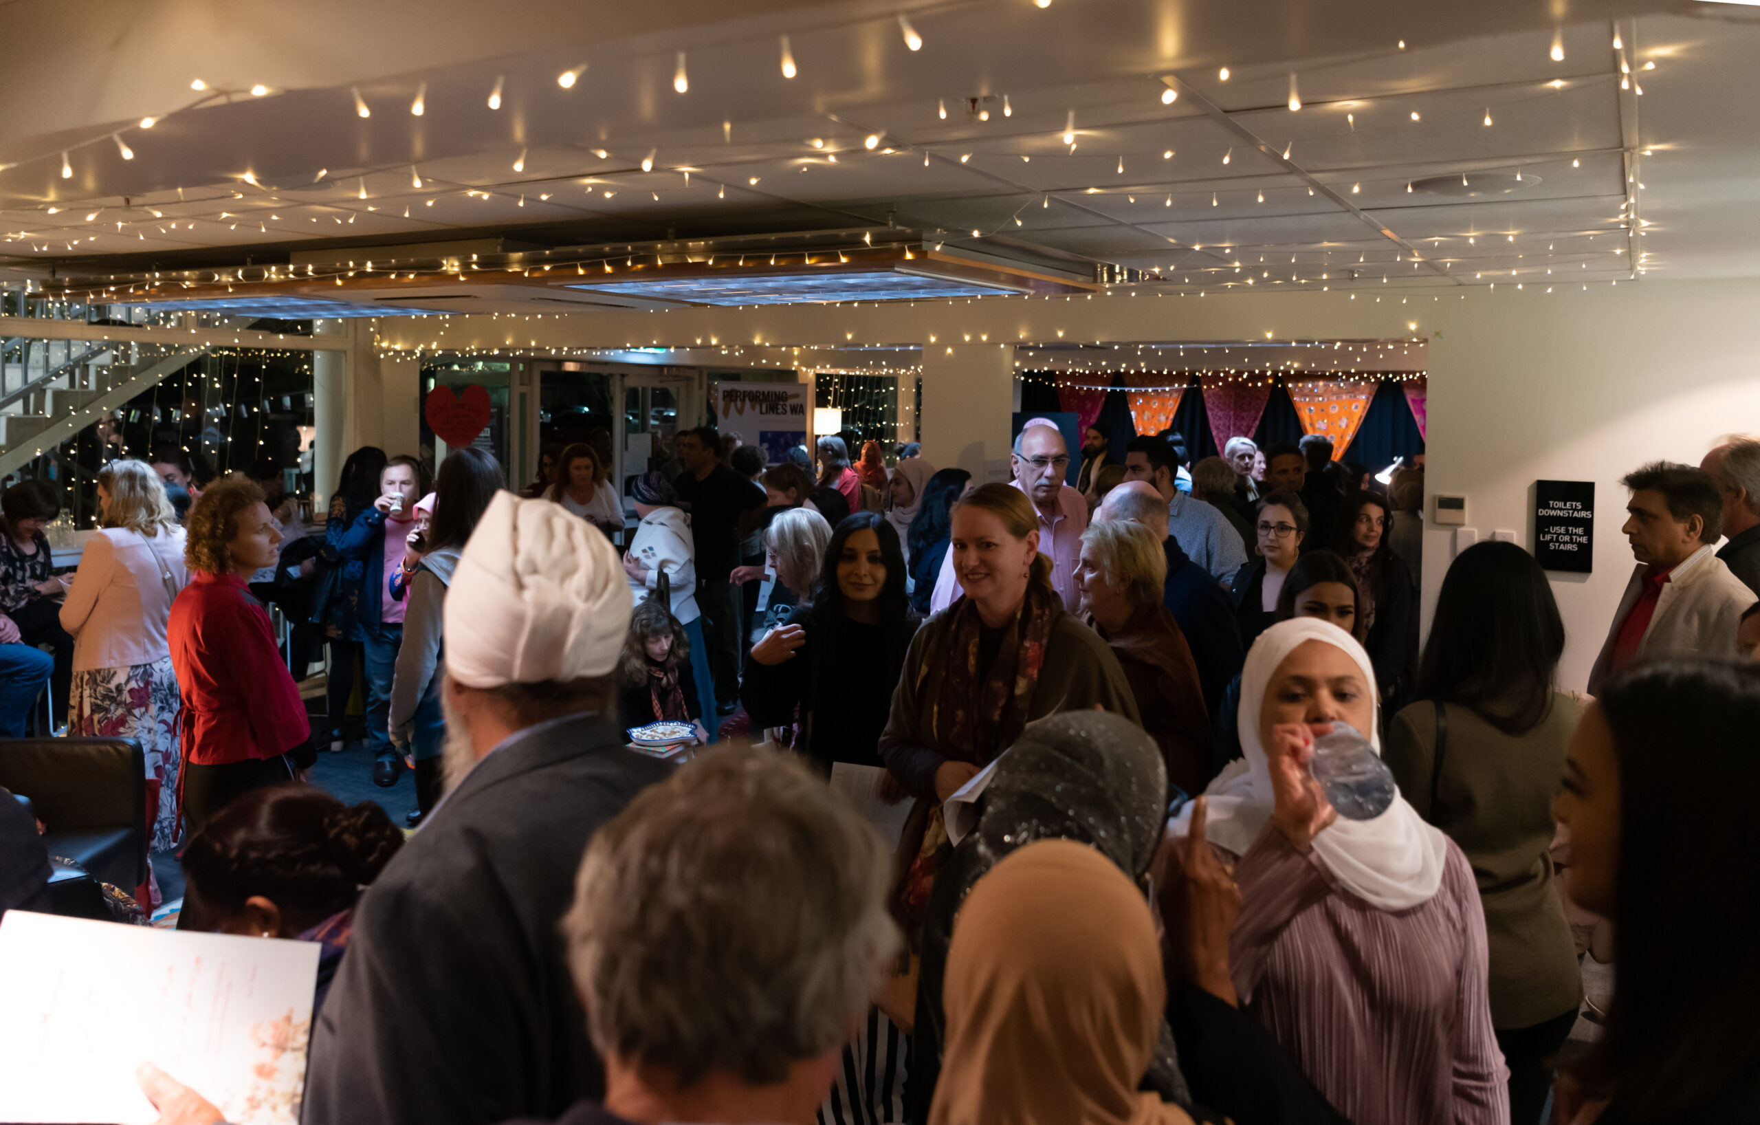
[[[361,898],[304,1125],[488,1125],[604,1095],[558,923],[586,842],[672,766],[579,715],[482,759]]]

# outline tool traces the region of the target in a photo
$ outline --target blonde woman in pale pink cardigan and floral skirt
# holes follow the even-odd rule
[[[86,540],[62,606],[74,637],[67,731],[132,738],[146,752],[146,831],[153,850],[178,836],[178,678],[165,621],[188,581],[183,528],[165,484],[146,461],[99,470],[102,528]]]

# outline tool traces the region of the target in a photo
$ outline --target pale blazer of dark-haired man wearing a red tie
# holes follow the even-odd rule
[[[1619,599],[1614,623],[1607,630],[1602,655],[1595,658],[1589,673],[1589,694],[1600,695],[1607,683],[1614,660],[1614,644],[1619,641],[1619,627],[1624,623],[1632,606],[1637,604],[1644,590],[1644,574],[1649,567],[1639,563],[1626,583],[1626,593]],[[1637,658],[1698,655],[1698,657],[1734,657],[1735,627],[1742,620],[1742,611],[1755,604],[1755,593],[1742,579],[1730,572],[1728,565],[1718,558],[1711,546],[1698,548],[1686,556],[1679,567],[1668,574],[1661,593],[1656,597],[1656,614],[1651,616],[1644,639],[1639,641]]]

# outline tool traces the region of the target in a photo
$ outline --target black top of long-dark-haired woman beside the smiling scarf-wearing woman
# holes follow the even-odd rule
[[[892,711],[892,688],[917,634],[917,618],[862,625],[836,613],[801,606],[785,625],[806,630],[806,643],[781,664],[746,655],[739,701],[753,727],[787,727],[801,720],[796,750],[825,773],[832,762],[885,766],[880,734]]]

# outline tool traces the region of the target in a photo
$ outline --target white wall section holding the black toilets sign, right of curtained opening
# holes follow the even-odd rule
[[[1756,310],[1760,282],[1646,280],[1563,299],[1500,287],[1434,319],[1431,495],[1464,493],[1480,539],[1508,528],[1533,549],[1533,482],[1595,482],[1595,570],[1552,574],[1563,687],[1588,683],[1632,577],[1619,477],[1654,460],[1697,465],[1714,438],[1760,430]],[[1450,558],[1452,532],[1429,525],[1426,623]]]

